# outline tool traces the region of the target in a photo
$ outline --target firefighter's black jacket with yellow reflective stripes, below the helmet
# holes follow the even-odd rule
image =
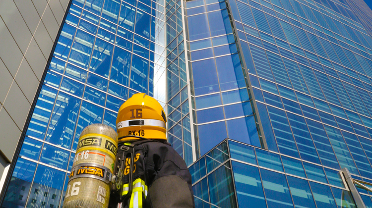
[[[118,157],[126,154],[119,144]],[[110,197],[110,208],[194,208],[191,175],[184,159],[169,143],[155,140],[134,145],[132,193],[127,200]],[[124,158],[124,157],[122,157]],[[128,193],[130,158],[124,159],[123,193]],[[130,193],[129,193],[130,194]],[[119,204],[118,206],[118,203]],[[113,206],[115,205],[115,206]]]

